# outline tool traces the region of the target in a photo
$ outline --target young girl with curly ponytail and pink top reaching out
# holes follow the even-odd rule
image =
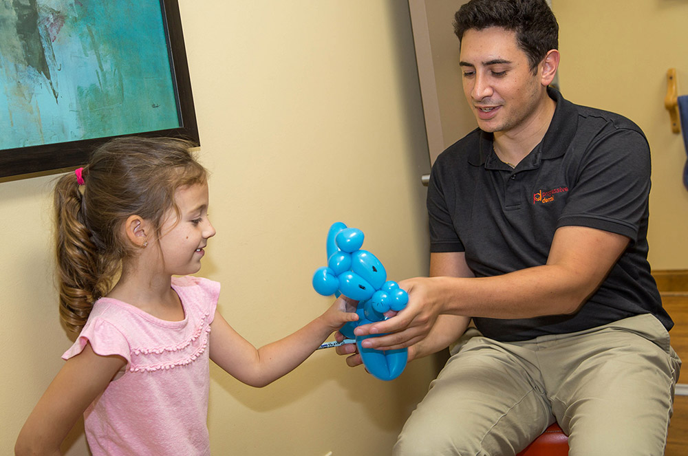
[[[340,298],[260,349],[235,332],[216,310],[219,283],[188,275],[215,235],[191,146],[113,140],[56,184],[60,312],[80,334],[19,433],[17,455],[59,455],[82,413],[94,456],[209,455],[208,359],[263,387],[358,318]]]

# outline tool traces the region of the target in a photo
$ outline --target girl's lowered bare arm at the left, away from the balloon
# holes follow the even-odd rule
[[[69,358],[21,428],[14,454],[60,455],[74,423],[126,363],[120,356],[97,355],[90,344]]]

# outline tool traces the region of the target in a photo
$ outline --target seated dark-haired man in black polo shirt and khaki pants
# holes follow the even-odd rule
[[[471,318],[482,336],[451,351],[394,452],[514,455],[556,420],[570,455],[663,455],[680,360],[647,263],[647,140],[548,88],[544,0],[472,0],[455,32],[478,129],[433,166],[431,277],[402,281],[407,308],[356,334],[389,333],[363,346],[411,359]]]

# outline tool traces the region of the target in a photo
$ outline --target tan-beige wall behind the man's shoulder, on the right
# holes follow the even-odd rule
[[[574,102],[623,113],[652,147],[649,260],[688,268],[686,151],[664,107],[667,69],[688,94],[688,3],[681,0],[553,0],[559,21],[559,83]]]

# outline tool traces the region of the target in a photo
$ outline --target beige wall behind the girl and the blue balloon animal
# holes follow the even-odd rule
[[[362,228],[392,279],[427,273],[420,175],[429,172],[409,10],[398,0],[180,0],[211,239],[201,274],[255,345],[323,310],[310,287],[334,221]],[[0,454],[70,345],[52,283],[54,176],[0,180]],[[211,371],[217,455],[380,456],[433,377],[431,360],[392,382],[334,351],[265,389]],[[76,433],[67,454],[86,455]]]

